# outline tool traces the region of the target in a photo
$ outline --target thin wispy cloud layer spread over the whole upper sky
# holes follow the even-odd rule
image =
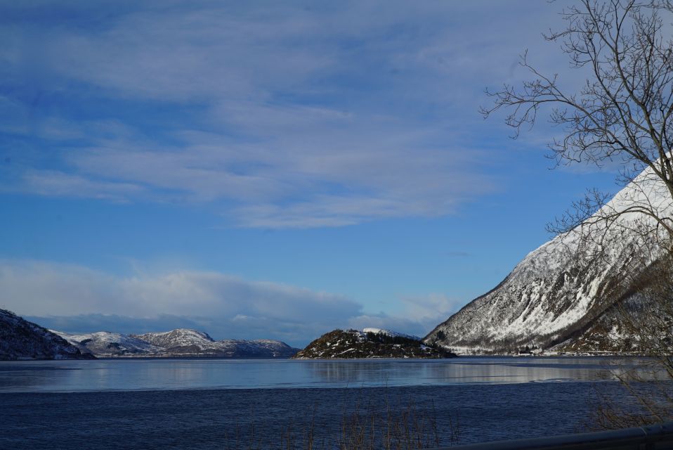
[[[93,26],[4,6],[22,20],[0,22],[12,87],[0,116],[5,147],[21,151],[8,150],[0,181],[212,203],[230,223],[265,228],[450,214],[497,189],[492,149],[468,130],[525,29],[452,20],[514,14],[485,5],[67,6]]]

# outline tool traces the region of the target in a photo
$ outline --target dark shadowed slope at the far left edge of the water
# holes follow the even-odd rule
[[[41,326],[0,309],[0,360],[14,359],[90,359]]]

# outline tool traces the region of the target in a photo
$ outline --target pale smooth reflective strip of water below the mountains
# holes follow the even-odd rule
[[[0,392],[374,387],[549,383],[613,378],[634,359],[601,357],[375,360],[110,359],[2,361]]]

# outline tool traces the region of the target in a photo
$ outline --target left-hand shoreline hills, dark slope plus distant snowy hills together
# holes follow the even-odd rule
[[[207,333],[185,328],[142,335],[109,331],[73,335],[47,330],[0,309],[0,360],[133,356],[288,358],[296,352],[299,349],[277,340],[213,340]]]

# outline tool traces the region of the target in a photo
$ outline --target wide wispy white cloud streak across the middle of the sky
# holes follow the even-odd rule
[[[334,130],[316,121],[303,134],[279,132],[255,144],[188,130],[170,146],[133,134],[97,139],[60,152],[67,171],[26,170],[5,190],[214,203],[238,226],[280,229],[436,217],[495,188],[473,169],[485,166],[483,152],[424,148],[424,141],[440,140],[433,131],[372,122]]]

